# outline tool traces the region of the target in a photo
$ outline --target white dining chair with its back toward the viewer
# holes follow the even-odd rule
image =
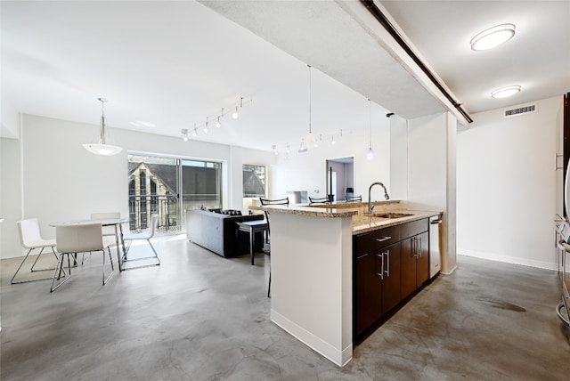
[[[69,255],[77,255],[77,253],[101,251],[103,255],[103,285],[110,280],[110,277],[115,272],[113,260],[110,255],[110,248],[103,245],[102,225],[101,223],[85,223],[85,224],[69,224],[59,225],[55,227],[55,240],[57,241],[57,251],[60,254],[60,261],[53,272],[52,287],[50,292],[55,291],[57,288],[67,282],[71,278],[71,260]],[[107,252],[107,253],[106,253]],[[110,269],[109,275],[105,276],[105,255],[109,254]],[[64,257],[68,257],[68,274],[62,275]],[[61,277],[64,280],[61,280]],[[58,283],[56,284],[56,280]]]

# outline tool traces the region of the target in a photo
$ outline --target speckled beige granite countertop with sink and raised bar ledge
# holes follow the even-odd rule
[[[348,202],[338,204],[314,205],[269,205],[263,207],[249,207],[252,210],[266,210],[274,213],[291,215],[309,215],[315,217],[338,218],[351,216],[353,220],[353,235],[367,231],[376,231],[401,223],[410,223],[423,218],[440,215],[442,212],[431,210],[411,210],[405,202],[400,200],[387,200],[374,202],[374,214],[369,215],[367,202]],[[385,218],[382,214],[404,214],[397,218]]]

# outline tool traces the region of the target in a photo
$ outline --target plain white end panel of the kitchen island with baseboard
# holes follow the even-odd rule
[[[271,319],[339,366],[352,359],[352,220],[273,212]]]

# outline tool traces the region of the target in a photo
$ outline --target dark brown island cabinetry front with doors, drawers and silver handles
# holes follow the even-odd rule
[[[355,235],[354,336],[428,280],[428,219]]]

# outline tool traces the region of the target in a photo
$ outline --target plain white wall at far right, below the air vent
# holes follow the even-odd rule
[[[457,138],[458,253],[555,269],[557,131],[562,96],[538,112],[472,115]]]

